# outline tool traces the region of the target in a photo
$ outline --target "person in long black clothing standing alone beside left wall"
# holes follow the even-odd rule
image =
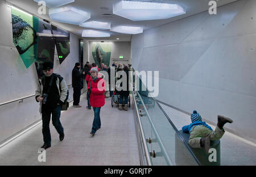
[[[72,87],[73,87],[73,107],[80,108],[80,95],[82,88],[82,78],[85,71],[80,74],[80,64],[77,62],[72,70]]]

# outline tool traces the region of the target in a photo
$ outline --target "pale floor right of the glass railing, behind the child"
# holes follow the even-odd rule
[[[162,106],[178,130],[184,125],[191,123],[189,115],[165,106],[164,104],[160,104],[160,106]],[[210,126],[213,130],[215,129],[213,125]],[[229,132],[226,132],[220,141],[221,165],[256,165],[256,145],[253,142],[243,140]]]

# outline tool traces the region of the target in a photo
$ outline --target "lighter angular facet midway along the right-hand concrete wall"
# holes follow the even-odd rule
[[[144,48],[139,70],[159,70],[159,77],[180,81],[213,40]]]

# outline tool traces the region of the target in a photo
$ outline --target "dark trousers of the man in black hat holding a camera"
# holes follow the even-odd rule
[[[60,105],[57,105],[56,108],[42,112],[42,121],[43,121],[43,138],[44,138],[44,144],[45,145],[51,145],[51,133],[49,130],[49,122],[51,120],[52,115],[52,124],[57,130],[59,134],[64,133],[64,129],[60,123],[60,111],[61,107]]]

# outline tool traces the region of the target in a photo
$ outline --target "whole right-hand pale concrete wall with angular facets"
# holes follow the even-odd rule
[[[159,70],[157,99],[256,142],[256,1],[218,7],[132,36],[133,67]]]

